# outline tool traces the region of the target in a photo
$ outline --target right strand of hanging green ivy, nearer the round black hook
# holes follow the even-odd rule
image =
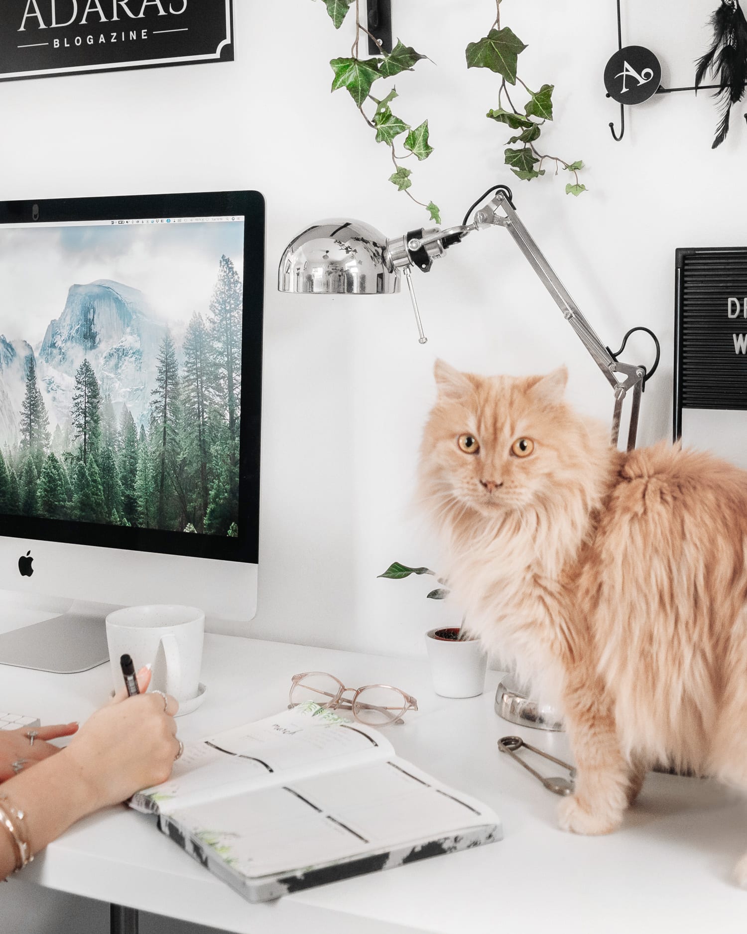
[[[521,39],[508,26],[500,27],[500,0],[496,0],[496,19],[487,35],[467,46],[468,68],[489,68],[500,75],[498,107],[488,110],[486,116],[498,123],[505,123],[514,130],[504,151],[505,163],[515,176],[531,181],[545,174],[545,162],[554,162],[557,175],[562,169],[571,172],[573,180],[566,185],[566,194],[578,196],[586,191],[586,186],[579,180],[579,172],[584,168],[581,160],[567,163],[559,156],[550,156],[537,149],[544,124],[553,120],[553,92],[555,85],[543,84],[539,91],[532,91],[518,76],[519,55],[527,49]],[[524,112],[517,110],[507,85],[515,86],[518,82],[529,95],[524,105]],[[505,98],[505,100],[504,100]],[[506,105],[506,106],[504,106]]]

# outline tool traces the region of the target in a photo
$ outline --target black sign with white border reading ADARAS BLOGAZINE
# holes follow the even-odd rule
[[[0,80],[233,61],[233,0],[2,0]]]

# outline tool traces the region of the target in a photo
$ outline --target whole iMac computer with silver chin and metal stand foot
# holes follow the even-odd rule
[[[264,228],[257,191],[0,203],[0,664],[101,664],[122,605],[254,616]]]

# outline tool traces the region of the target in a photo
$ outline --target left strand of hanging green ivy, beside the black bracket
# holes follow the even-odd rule
[[[430,201],[425,204],[418,201],[415,195],[410,191],[412,188],[412,169],[408,169],[401,163],[412,156],[416,157],[418,162],[428,159],[433,147],[429,141],[428,120],[423,120],[419,126],[412,127],[400,117],[392,112],[391,102],[398,97],[396,88],[392,88],[387,94],[384,92],[380,98],[372,93],[372,88],[376,81],[382,78],[394,78],[404,71],[413,71],[414,66],[426,58],[416,52],[412,46],[405,46],[399,39],[394,49],[389,54],[373,56],[373,58],[361,59],[359,57],[360,34],[371,35],[365,26],[360,22],[359,0],[322,0],[335,29],[339,29],[345,17],[351,8],[355,10],[355,38],[350,55],[347,58],[336,58],[330,62],[331,69],[334,72],[332,78],[332,91],[338,91],[345,88],[355,101],[363,120],[368,123],[372,130],[375,130],[377,143],[384,143],[391,152],[391,160],[394,163],[394,172],[389,176],[389,181],[396,185],[399,191],[404,193],[416,203],[421,205],[430,214],[430,219],[435,220],[437,224],[441,223],[441,213],[438,206]],[[373,38],[373,36],[372,36]],[[375,41],[375,39],[374,39]],[[367,114],[363,107],[369,108]],[[406,134],[406,135],[404,135]],[[399,137],[404,135],[404,141]],[[406,152],[398,152],[396,143],[402,143],[402,149]]]

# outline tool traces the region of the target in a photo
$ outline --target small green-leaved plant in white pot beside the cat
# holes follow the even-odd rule
[[[430,568],[410,568],[395,561],[379,577],[402,580],[410,574],[436,576]],[[444,585],[446,582],[438,579],[438,583]],[[446,587],[436,587],[430,591],[428,599],[444,600],[448,593]],[[483,693],[487,657],[481,644],[468,635],[463,620],[460,627],[429,630],[426,633],[426,646],[436,694],[447,698],[471,698]]]

